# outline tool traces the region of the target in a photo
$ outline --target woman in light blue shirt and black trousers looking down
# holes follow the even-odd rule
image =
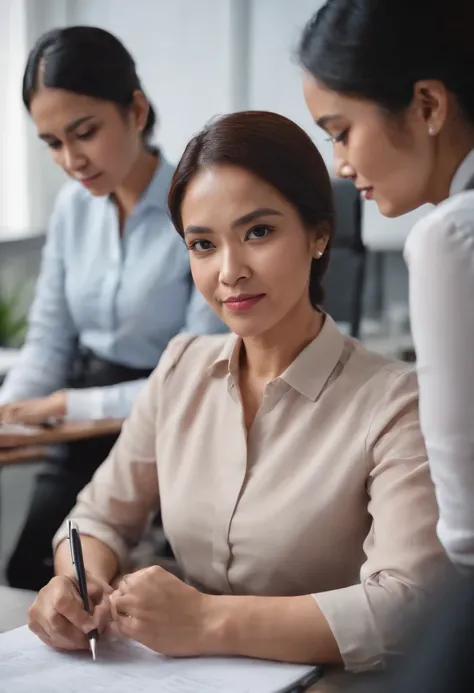
[[[54,208],[0,418],[125,417],[171,337],[224,326],[193,286],[166,210],[173,168],[149,145],[155,113],[120,41],[94,27],[45,34],[30,53],[23,100],[73,180]],[[54,451],[9,563],[11,584],[39,589],[50,579],[52,536],[114,440]]]

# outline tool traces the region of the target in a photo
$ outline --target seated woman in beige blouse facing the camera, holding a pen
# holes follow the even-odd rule
[[[334,228],[328,174],[294,123],[213,121],[169,194],[192,273],[234,333],[176,337],[72,517],[30,611],[46,643],[115,627],[170,655],[235,654],[368,669],[445,570],[414,372],[343,336],[318,306]],[[186,582],[127,575],[160,505]]]

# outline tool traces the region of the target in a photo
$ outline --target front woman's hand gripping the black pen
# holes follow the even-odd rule
[[[28,627],[46,645],[59,650],[86,650],[86,634],[93,628],[102,633],[110,621],[109,595],[113,589],[87,575],[87,591],[93,614],[82,603],[75,578],[54,577],[38,593],[28,611]]]

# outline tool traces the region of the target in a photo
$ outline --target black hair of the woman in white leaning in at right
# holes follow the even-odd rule
[[[472,0],[328,0],[304,29],[302,66],[329,89],[391,113],[436,79],[474,124]]]

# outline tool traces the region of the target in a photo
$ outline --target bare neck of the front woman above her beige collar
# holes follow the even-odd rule
[[[281,375],[315,339],[323,315],[305,301],[274,328],[257,337],[244,337],[241,368],[252,379],[270,382]]]

